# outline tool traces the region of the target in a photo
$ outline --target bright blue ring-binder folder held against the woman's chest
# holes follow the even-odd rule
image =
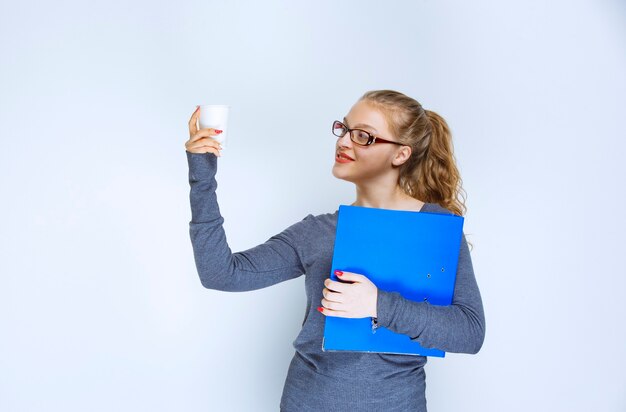
[[[462,216],[362,206],[339,206],[330,278],[335,269],[359,273],[378,289],[431,305],[450,305],[463,235]],[[371,318],[326,316],[324,351],[356,351],[444,357],[409,335]]]

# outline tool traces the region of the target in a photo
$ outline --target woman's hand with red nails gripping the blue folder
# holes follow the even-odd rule
[[[352,283],[324,281],[322,307],[318,308],[326,316],[340,318],[366,318],[376,316],[378,288],[371,280],[353,272],[336,270],[335,275],[341,280]]]

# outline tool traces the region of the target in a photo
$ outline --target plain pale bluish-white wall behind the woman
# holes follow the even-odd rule
[[[448,120],[468,193],[487,336],[429,410],[626,410],[626,6],[383,3],[2,2],[1,410],[277,410],[304,278],[202,288],[187,121],[232,105],[243,250],[354,200],[330,125],[379,88]]]

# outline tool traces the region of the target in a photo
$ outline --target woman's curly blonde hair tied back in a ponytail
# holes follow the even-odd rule
[[[443,117],[394,90],[368,91],[359,100],[380,110],[391,133],[411,147],[411,157],[400,166],[398,185],[402,190],[455,215],[465,215],[466,193],[454,158],[452,134]]]

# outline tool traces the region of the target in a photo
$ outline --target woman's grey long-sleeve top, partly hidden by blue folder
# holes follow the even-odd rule
[[[232,253],[217,202],[217,157],[187,153],[191,201],[189,233],[200,281],[209,289],[261,289],[305,274],[307,305],[293,342],[281,411],[426,411],[427,358],[415,355],[322,351],[324,280],[330,277],[338,210],[307,215],[265,243]],[[422,210],[450,213],[435,203]],[[378,290],[378,323],[425,348],[477,353],[485,316],[463,235],[452,304],[415,302]]]

